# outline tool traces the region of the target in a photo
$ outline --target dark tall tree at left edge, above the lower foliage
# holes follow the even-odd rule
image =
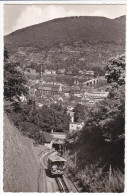
[[[4,98],[10,101],[19,100],[21,95],[28,94],[27,80],[19,64],[7,61],[9,57],[6,49],[4,55]]]

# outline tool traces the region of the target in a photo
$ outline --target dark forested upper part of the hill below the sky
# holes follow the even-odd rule
[[[23,46],[46,48],[76,41],[124,44],[125,16],[116,19],[92,16],[59,18],[5,36],[5,43],[13,51]]]

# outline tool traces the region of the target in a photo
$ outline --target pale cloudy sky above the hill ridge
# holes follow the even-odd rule
[[[69,16],[104,16],[114,19],[126,14],[126,5],[5,4],[4,35],[15,30]]]

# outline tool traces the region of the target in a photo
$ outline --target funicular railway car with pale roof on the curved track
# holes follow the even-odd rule
[[[66,160],[60,156],[50,156],[48,158],[48,170],[52,175],[63,175]]]

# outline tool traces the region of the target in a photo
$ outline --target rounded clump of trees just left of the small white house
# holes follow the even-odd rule
[[[68,129],[69,117],[62,106],[44,105],[42,108],[24,105],[22,108],[26,120],[40,126],[43,131],[66,131]]]

